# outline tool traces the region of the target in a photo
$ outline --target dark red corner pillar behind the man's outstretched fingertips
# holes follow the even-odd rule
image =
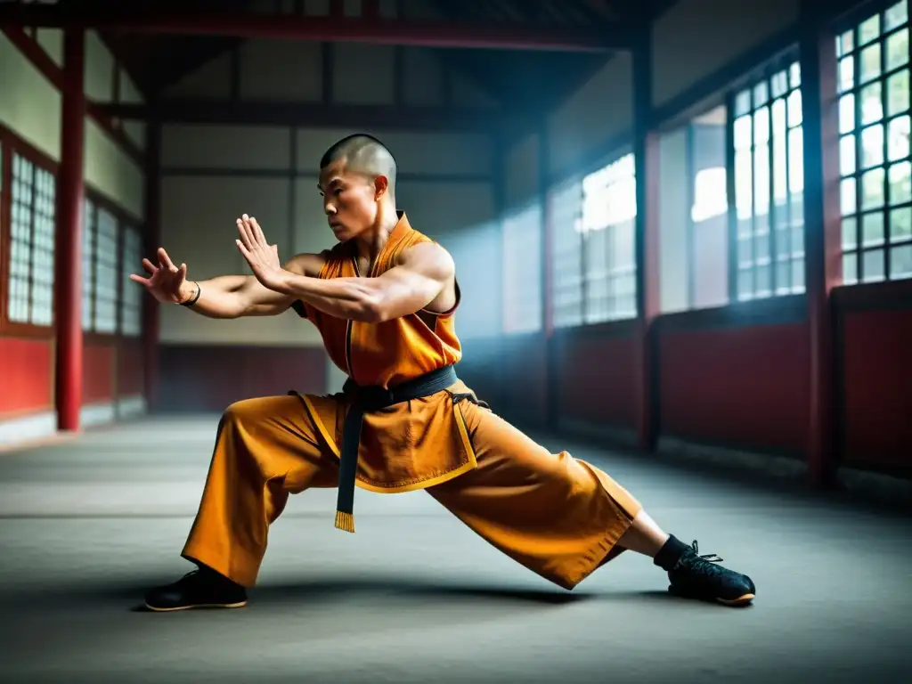
[[[143,233],[143,252],[155,264],[155,254],[161,246],[161,123],[146,124],[146,230]],[[135,265],[136,268],[140,264]],[[159,316],[161,305],[145,293],[142,297],[142,368],[146,405],[158,406],[159,384]]]

